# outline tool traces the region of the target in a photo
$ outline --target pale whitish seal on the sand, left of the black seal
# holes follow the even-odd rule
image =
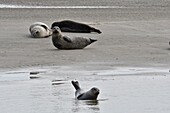
[[[52,35],[51,29],[42,22],[33,23],[29,30],[33,38],[45,38]]]

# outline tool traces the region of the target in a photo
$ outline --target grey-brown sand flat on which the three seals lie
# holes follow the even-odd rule
[[[169,8],[1,9],[0,68],[109,62],[113,65],[170,65]],[[29,26],[71,19],[102,34],[74,34],[98,41],[82,50],[57,50],[51,37],[33,39]]]

